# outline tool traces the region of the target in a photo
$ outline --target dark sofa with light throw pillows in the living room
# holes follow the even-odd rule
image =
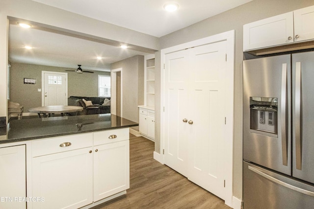
[[[70,96],[68,105],[83,107],[83,110],[78,112],[78,115],[110,113],[110,97]]]

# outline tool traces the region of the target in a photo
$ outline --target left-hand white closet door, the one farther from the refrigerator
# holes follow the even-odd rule
[[[187,50],[165,55],[165,124],[164,139],[165,164],[187,176],[187,140],[188,109],[186,104],[192,104],[188,97],[188,56]]]

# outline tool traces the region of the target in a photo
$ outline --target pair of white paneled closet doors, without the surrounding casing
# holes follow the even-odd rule
[[[226,41],[165,55],[165,164],[224,199]]]

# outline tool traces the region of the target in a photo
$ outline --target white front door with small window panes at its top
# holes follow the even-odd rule
[[[42,105],[68,105],[68,74],[43,71],[42,77],[44,81]]]

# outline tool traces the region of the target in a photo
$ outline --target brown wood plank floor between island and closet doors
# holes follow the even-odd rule
[[[130,189],[93,209],[231,209],[153,159],[154,142],[130,135]]]

